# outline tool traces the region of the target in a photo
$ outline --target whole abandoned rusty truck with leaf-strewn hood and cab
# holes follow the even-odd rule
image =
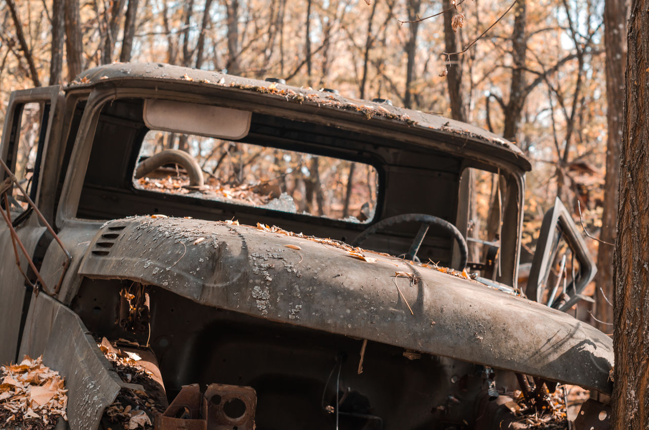
[[[0,362],[43,355],[71,429],[116,428],[125,391],[158,429],[386,430],[611,392],[611,340],[566,312],[596,268],[561,202],[519,281],[531,166],[495,134],[165,64],[13,92],[3,132]]]

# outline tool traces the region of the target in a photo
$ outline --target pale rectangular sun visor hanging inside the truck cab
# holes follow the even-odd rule
[[[182,101],[147,99],[144,123],[152,130],[237,140],[250,130],[252,112]]]

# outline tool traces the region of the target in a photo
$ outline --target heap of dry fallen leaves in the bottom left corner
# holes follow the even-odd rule
[[[43,357],[25,355],[19,364],[0,367],[0,428],[51,429],[67,421],[64,378],[43,365]]]

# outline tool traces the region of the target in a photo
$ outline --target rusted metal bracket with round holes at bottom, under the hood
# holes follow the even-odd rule
[[[171,405],[155,418],[156,430],[254,430],[257,394],[250,386],[184,385]]]

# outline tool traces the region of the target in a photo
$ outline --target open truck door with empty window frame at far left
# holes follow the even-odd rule
[[[55,180],[43,172],[47,149],[59,138],[52,133],[59,93],[60,86],[16,91],[6,110],[0,144],[0,364],[17,359],[32,294],[47,291],[38,281],[39,259],[53,236],[34,207],[43,181]]]

